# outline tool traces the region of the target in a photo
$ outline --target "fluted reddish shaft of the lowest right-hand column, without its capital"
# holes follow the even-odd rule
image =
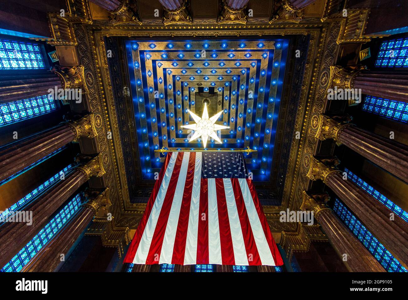
[[[379,262],[335,216],[332,210],[322,210],[317,221],[322,226],[337,253],[347,254],[344,261],[352,272],[385,272]]]

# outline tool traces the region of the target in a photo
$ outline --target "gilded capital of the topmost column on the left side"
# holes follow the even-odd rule
[[[63,67],[55,66],[51,69],[51,72],[60,77],[62,88],[79,88],[81,94],[87,94],[89,92],[88,86],[85,81],[85,73],[83,66]]]

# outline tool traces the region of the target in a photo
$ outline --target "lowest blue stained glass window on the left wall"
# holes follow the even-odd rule
[[[76,195],[43,229],[36,234],[29,243],[21,249],[7,264],[0,270],[2,272],[18,272],[27,265],[30,259],[40,249],[53,238],[61,227],[67,223],[69,218],[81,206],[80,194]]]

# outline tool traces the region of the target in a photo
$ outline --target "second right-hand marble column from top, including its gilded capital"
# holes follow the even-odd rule
[[[408,146],[320,114],[312,116],[311,128],[318,139],[335,139],[408,183]]]

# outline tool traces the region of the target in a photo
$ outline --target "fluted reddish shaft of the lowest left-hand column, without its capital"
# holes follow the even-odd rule
[[[35,254],[21,272],[53,272],[61,263],[61,254],[68,253],[94,215],[91,207],[80,207],[71,221]]]

